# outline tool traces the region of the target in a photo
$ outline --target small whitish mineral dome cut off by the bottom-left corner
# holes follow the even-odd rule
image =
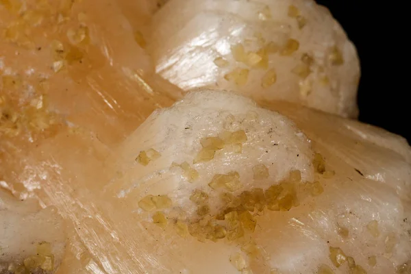
[[[0,273],[54,273],[64,236],[55,208],[41,210],[37,201],[18,201],[0,189]]]

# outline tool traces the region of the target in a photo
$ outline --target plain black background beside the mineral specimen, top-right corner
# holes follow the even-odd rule
[[[356,45],[361,62],[360,121],[411,143],[411,15],[400,1],[316,0],[325,5]],[[403,21],[403,22],[401,22]]]

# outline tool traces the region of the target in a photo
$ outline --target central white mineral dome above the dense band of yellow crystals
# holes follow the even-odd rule
[[[240,195],[266,189],[290,171],[300,171],[305,181],[314,179],[306,136],[284,116],[233,92],[192,92],[172,108],[151,114],[122,147],[119,156],[134,164],[127,179],[121,177],[127,186],[114,182],[121,187],[119,197],[169,195],[190,214],[197,209],[189,199],[195,190],[208,195],[215,214],[223,207],[223,192]],[[153,162],[136,159],[142,151],[152,150],[158,153]],[[214,175],[229,173],[238,173],[233,186],[208,185]]]

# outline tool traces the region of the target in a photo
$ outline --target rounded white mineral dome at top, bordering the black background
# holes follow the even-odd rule
[[[155,71],[183,90],[228,89],[358,114],[356,49],[313,0],[173,0],[152,22]]]

